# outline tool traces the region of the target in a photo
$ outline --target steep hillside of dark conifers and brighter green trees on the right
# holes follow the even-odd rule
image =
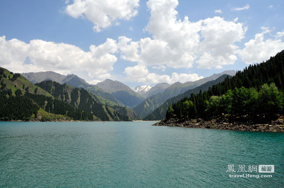
[[[284,51],[168,107],[167,118],[283,114]],[[247,115],[246,115],[247,114]]]

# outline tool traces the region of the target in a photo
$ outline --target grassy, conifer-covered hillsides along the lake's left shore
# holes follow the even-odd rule
[[[97,102],[83,88],[51,80],[35,86],[4,68],[0,68],[0,98],[0,120],[130,121],[128,116]]]

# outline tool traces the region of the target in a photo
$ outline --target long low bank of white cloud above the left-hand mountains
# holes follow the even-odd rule
[[[89,52],[66,43],[32,40],[25,43],[17,39],[0,37],[0,65],[13,72],[54,71],[68,74],[71,71],[86,71],[89,77],[107,76],[117,58],[116,41],[107,39],[99,46],[91,45]],[[29,64],[25,63],[29,58]],[[65,71],[62,71],[65,70]]]

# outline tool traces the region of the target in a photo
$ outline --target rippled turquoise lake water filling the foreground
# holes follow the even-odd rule
[[[153,123],[0,122],[0,187],[284,187],[284,133]]]

